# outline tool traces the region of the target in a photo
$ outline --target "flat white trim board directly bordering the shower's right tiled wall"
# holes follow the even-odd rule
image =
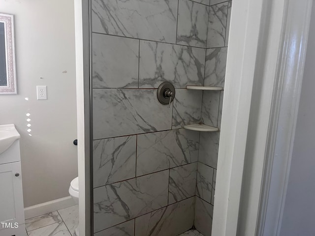
[[[264,0],[233,1],[212,235],[234,236]],[[231,119],[232,118],[232,119]]]

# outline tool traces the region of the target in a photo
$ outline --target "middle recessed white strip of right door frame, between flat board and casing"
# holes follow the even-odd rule
[[[237,235],[242,236],[254,236],[256,232],[270,112],[278,78],[284,8],[284,0],[264,1],[265,17],[261,21],[237,226]]]

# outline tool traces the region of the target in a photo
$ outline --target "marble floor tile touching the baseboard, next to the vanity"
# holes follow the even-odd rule
[[[36,216],[25,220],[25,227],[27,231],[35,230],[47,225],[63,221],[57,211],[48,214]]]

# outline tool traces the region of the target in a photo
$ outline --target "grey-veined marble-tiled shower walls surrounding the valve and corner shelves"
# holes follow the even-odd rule
[[[224,85],[230,3],[213,2],[92,1],[95,236],[211,234],[219,134],[200,154],[183,127],[220,124],[223,93],[185,89]],[[164,81],[170,108],[156,97]]]

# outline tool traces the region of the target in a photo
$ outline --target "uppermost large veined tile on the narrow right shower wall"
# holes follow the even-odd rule
[[[224,47],[227,18],[227,2],[209,8],[207,48]]]

